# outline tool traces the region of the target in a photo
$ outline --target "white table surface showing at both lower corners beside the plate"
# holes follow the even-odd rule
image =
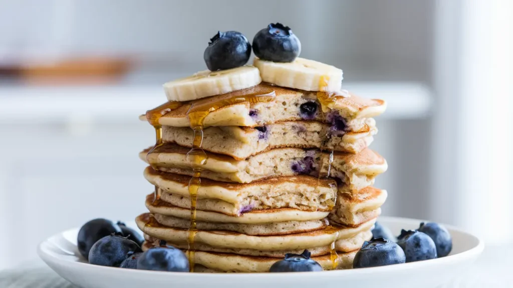
[[[512,288],[511,268],[513,268],[513,264],[511,264],[511,259],[513,259],[512,248],[486,247],[481,258],[465,275],[458,276],[457,279],[440,288]],[[1,271],[0,287],[76,288],[50,270],[41,260],[34,260],[26,265]]]

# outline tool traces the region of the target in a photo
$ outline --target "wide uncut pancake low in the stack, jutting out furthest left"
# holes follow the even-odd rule
[[[189,236],[187,230],[166,227],[157,222],[151,214],[142,214],[135,218],[135,222],[141,231],[151,237],[171,243],[187,243]],[[328,226],[317,231],[278,236],[251,236],[229,231],[198,231],[194,237],[194,243],[216,248],[292,251],[329,246],[336,240],[351,238],[362,231],[369,230],[374,222],[376,222],[375,219],[358,227]]]

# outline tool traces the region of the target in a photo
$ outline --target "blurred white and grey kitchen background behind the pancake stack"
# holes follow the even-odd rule
[[[508,0],[0,0],[0,268],[91,218],[144,212],[137,153],[154,132],[139,114],[166,100],[161,84],[206,69],[218,30],[251,41],[271,22],[293,29],[303,57],[342,68],[346,89],[389,101],[371,146],[389,164],[376,184],[384,215],[513,240],[511,11]]]

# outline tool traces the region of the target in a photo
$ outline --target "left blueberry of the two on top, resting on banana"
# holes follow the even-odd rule
[[[246,64],[251,55],[251,44],[237,31],[218,32],[203,53],[210,71],[226,70]]]

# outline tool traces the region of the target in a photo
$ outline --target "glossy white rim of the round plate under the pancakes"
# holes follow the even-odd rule
[[[410,222],[413,223],[420,223],[420,222],[430,222],[427,220],[420,220],[420,219],[414,219],[414,218],[404,218],[404,217],[390,217],[390,216],[380,216],[379,220],[385,220],[384,222],[389,221],[401,221],[401,222]],[[130,222],[130,221],[129,221]],[[133,221],[132,221],[133,222]],[[474,260],[481,255],[484,249],[484,242],[483,240],[473,235],[469,232],[466,232],[464,229],[458,228],[456,226],[452,225],[446,225],[442,224],[449,230],[465,234],[467,237],[472,237],[477,241],[477,244],[473,246],[472,248],[463,251],[461,253],[450,255],[442,258],[436,258],[436,259],[430,259],[430,260],[424,260],[424,261],[418,261],[418,262],[410,262],[410,263],[401,263],[401,264],[394,264],[394,265],[385,265],[385,266],[377,266],[377,267],[367,267],[367,268],[358,268],[358,269],[343,269],[343,270],[332,270],[332,271],[320,271],[320,272],[295,272],[294,276],[302,277],[304,275],[309,275],[309,277],[312,276],[312,273],[315,275],[321,275],[320,273],[330,273],[330,275],[333,275],[337,273],[337,275],[344,276],[346,274],[351,275],[361,275],[361,274],[375,274],[375,273],[387,273],[394,270],[415,270],[418,267],[425,266],[425,265],[438,265],[440,262],[458,262],[458,260],[462,260],[465,258],[473,258]],[[41,241],[37,245],[37,255],[40,257],[50,268],[53,270],[53,266],[49,263],[62,266],[63,263],[72,263],[70,265],[75,265],[76,268],[80,268],[80,266],[83,266],[84,269],[92,269],[96,271],[102,271],[103,273],[108,273],[109,271],[112,271],[113,273],[120,272],[119,267],[109,267],[109,266],[100,266],[100,265],[93,265],[89,263],[79,262],[79,261],[70,261],[70,260],[63,260],[55,255],[52,255],[50,253],[46,253],[44,251],[44,245],[49,244],[49,240],[52,238],[60,237],[64,233],[67,233],[69,231],[80,229],[80,227],[70,228],[66,229],[65,231],[62,231],[60,233],[54,234],[45,240]],[[124,269],[123,269],[124,270]],[[55,271],[57,274],[59,274],[57,271]],[[201,279],[207,279],[207,278],[220,278],[220,277],[226,277],[226,273],[183,273],[183,272],[166,272],[166,271],[149,271],[149,270],[137,270],[137,269],[131,269],[130,273],[139,273],[141,275],[155,275],[155,276],[162,276],[162,275],[169,275],[169,277],[173,276],[180,276],[180,277],[194,277],[195,279],[201,278]],[[265,275],[265,277],[283,277],[283,274],[286,274],[284,272],[282,273],[266,273],[266,272],[253,272],[253,273],[229,273],[232,278],[245,278],[248,277],[248,275]],[[59,274],[60,275],[60,274]]]

